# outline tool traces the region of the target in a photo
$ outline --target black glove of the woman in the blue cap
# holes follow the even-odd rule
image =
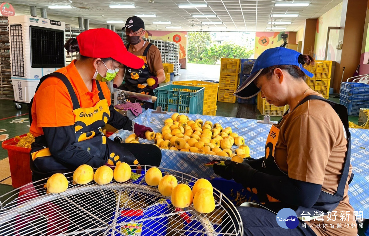
[[[234,179],[235,182],[242,184],[245,188],[254,187],[255,181],[252,179],[258,171],[248,164],[248,160],[244,160],[242,163],[227,160],[224,164],[226,166],[214,165],[214,173],[224,179]]]

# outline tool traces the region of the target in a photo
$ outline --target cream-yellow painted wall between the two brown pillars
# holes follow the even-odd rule
[[[341,25],[341,12],[342,2],[318,18],[314,44],[315,60],[324,60],[328,27]],[[336,61],[338,38],[339,30],[332,29],[329,35],[327,51],[327,60],[329,61]]]

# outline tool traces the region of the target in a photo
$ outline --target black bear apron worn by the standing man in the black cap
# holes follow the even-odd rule
[[[148,42],[146,42],[148,43]],[[147,63],[147,52],[149,51],[149,48],[151,47],[152,43],[148,43],[146,46],[144,53],[142,56],[137,56],[144,60],[144,66],[139,69],[134,69],[128,66],[125,66],[125,75],[124,75],[124,85],[121,89],[131,91],[131,92],[141,92],[142,89],[144,89],[146,86],[142,84],[146,84],[146,80],[150,76],[155,76],[148,67]],[[130,44],[127,45],[127,50],[129,49]],[[154,95],[154,91],[152,89],[146,89],[146,92],[148,92],[149,95]]]

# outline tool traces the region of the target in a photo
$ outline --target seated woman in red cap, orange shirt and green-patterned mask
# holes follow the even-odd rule
[[[90,29],[64,45],[80,59],[41,78],[31,102],[33,180],[74,171],[87,164],[99,167],[120,162],[159,166],[161,151],[151,144],[117,143],[101,128],[111,124],[145,138],[151,128],[122,116],[111,105],[106,81],[123,64],[140,68],[143,61],[127,52],[121,38],[110,29]]]

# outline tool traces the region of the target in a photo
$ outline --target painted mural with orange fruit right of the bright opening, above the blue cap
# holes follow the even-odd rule
[[[258,58],[266,49],[281,46],[283,44],[281,34],[283,33],[289,34],[289,32],[256,32],[254,58]]]

